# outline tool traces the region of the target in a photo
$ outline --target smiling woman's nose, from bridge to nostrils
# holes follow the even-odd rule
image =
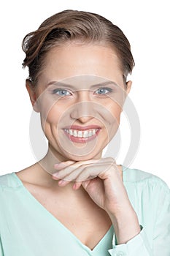
[[[71,117],[85,124],[95,117],[94,103],[90,100],[89,91],[79,91],[77,95],[77,102],[72,108]]]

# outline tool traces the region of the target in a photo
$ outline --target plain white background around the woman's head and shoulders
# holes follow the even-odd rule
[[[29,142],[31,104],[25,88],[28,73],[21,67],[23,37],[45,18],[61,10],[87,10],[112,20],[131,42],[136,67],[131,100],[140,118],[142,135],[131,167],[161,177],[170,187],[169,1],[3,1],[1,19],[0,174],[36,162]],[[123,121],[123,124],[125,122]],[[124,125],[123,143],[128,141]],[[122,157],[117,160],[121,163]]]

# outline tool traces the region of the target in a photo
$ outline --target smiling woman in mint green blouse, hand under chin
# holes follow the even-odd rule
[[[67,10],[28,34],[23,50],[48,151],[0,178],[0,255],[170,255],[169,188],[101,157],[131,90],[123,32]]]

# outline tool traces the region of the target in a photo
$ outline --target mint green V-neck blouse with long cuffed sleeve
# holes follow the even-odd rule
[[[0,176],[0,256],[169,256],[169,187],[157,176],[125,167],[123,183],[141,233],[116,245],[111,227],[90,250],[28,192],[15,173]]]

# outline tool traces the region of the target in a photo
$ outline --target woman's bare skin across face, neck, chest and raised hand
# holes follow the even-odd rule
[[[52,96],[51,91],[58,84],[51,82],[63,80],[75,88],[63,97]],[[91,87],[94,82],[108,80],[116,83],[115,94],[97,94],[98,88]],[[131,89],[131,81],[125,89],[115,51],[107,45],[77,42],[55,47],[45,56],[36,89],[28,81],[26,87],[34,110],[41,113],[49,150],[44,159],[17,173],[23,184],[90,249],[98,244],[110,225],[114,225],[117,244],[134,238],[140,232],[139,221],[125,191],[121,167],[112,157],[101,157],[103,148],[117,131],[123,103]],[[62,129],[72,124],[97,125],[100,132],[96,140],[86,144],[72,143]],[[75,154],[77,151],[79,154]],[[64,206],[72,208],[70,202],[74,202],[72,219],[62,211]],[[81,218],[77,218],[77,210]],[[82,219],[86,219],[84,226]],[[70,221],[74,225],[69,225]],[[97,231],[96,238],[93,231]]]

